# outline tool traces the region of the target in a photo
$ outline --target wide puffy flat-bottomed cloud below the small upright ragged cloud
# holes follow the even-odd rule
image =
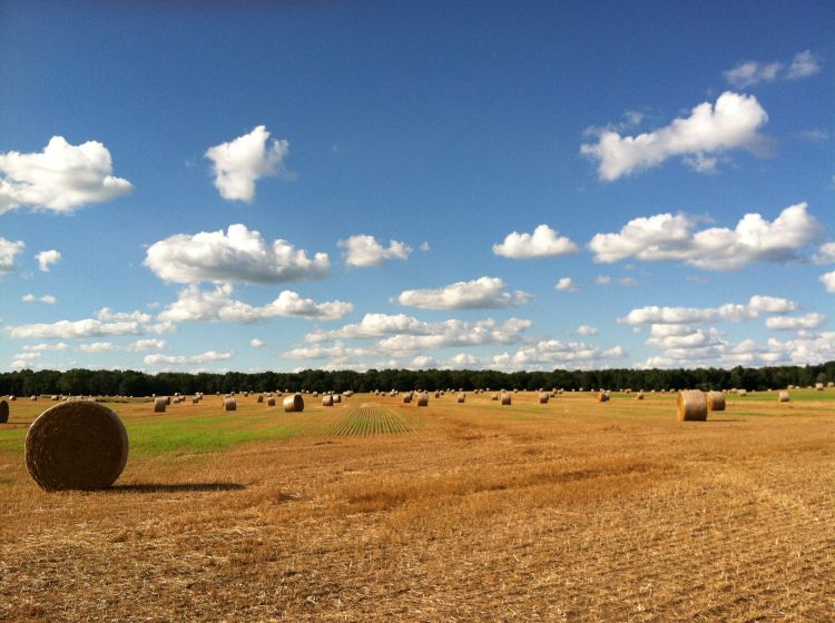
[[[268,245],[261,233],[230,225],[227,233],[176,234],[154,243],[145,266],[166,281],[285,284],[320,279],[330,266],[327,254],[313,259],[286,240]]]

